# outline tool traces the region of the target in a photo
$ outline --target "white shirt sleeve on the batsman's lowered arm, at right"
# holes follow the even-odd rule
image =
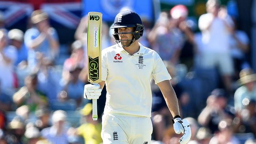
[[[161,57],[156,52],[154,54],[154,70],[152,72],[152,76],[156,84],[161,81],[171,79],[171,76],[167,71]]]

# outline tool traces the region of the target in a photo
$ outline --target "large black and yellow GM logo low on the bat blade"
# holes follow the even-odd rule
[[[99,57],[95,57],[94,59],[89,56],[89,80],[96,81],[99,79]]]

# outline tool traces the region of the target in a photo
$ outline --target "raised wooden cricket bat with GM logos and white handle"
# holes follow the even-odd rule
[[[92,84],[101,82],[102,13],[88,13],[87,27],[87,74]],[[93,99],[93,120],[98,119],[97,99]]]

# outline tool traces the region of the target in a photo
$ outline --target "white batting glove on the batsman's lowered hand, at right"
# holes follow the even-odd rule
[[[180,116],[174,116],[173,129],[177,134],[183,133],[179,139],[180,144],[187,144],[189,142],[191,129],[187,120],[181,120]]]

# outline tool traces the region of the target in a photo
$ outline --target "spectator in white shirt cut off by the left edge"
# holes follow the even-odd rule
[[[0,29],[0,107],[10,110],[11,96],[14,91],[14,63],[17,58],[17,50],[7,43],[7,32]]]

